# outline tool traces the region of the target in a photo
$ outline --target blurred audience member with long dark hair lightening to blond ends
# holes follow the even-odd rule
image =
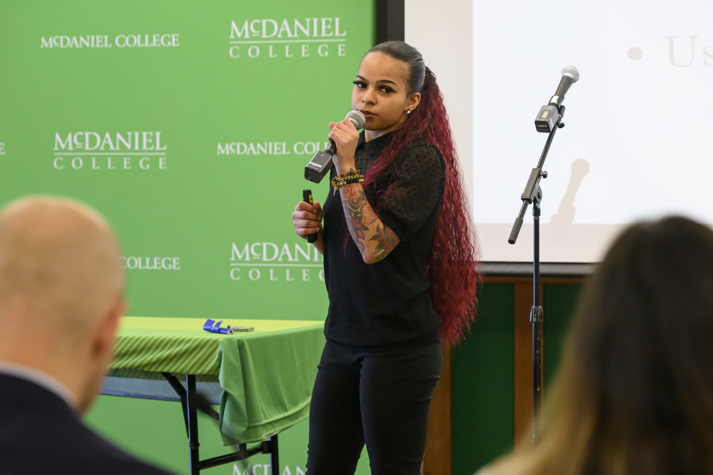
[[[626,230],[583,290],[535,451],[481,474],[713,473],[713,231]]]

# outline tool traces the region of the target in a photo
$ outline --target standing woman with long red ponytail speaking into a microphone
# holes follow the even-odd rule
[[[361,60],[324,210],[299,202],[297,235],[319,233],[329,312],[309,412],[307,474],[419,474],[441,341],[473,318],[477,245],[448,116],[421,53],[401,41]],[[324,218],[324,227],[322,227]]]

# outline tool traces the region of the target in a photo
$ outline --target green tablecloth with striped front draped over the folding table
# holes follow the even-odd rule
[[[260,441],[309,416],[324,348],[324,322],[225,320],[255,332],[215,334],[205,319],[123,317],[111,376],[163,379],[160,372],[220,381],[224,445]]]

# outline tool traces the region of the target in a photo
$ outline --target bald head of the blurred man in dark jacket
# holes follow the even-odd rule
[[[125,310],[111,229],[72,200],[26,198],[0,212],[0,362],[61,382],[91,405]]]

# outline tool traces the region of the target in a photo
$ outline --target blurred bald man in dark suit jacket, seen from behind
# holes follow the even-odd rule
[[[0,212],[0,474],[161,475],[84,427],[123,315],[116,238],[93,210]]]

